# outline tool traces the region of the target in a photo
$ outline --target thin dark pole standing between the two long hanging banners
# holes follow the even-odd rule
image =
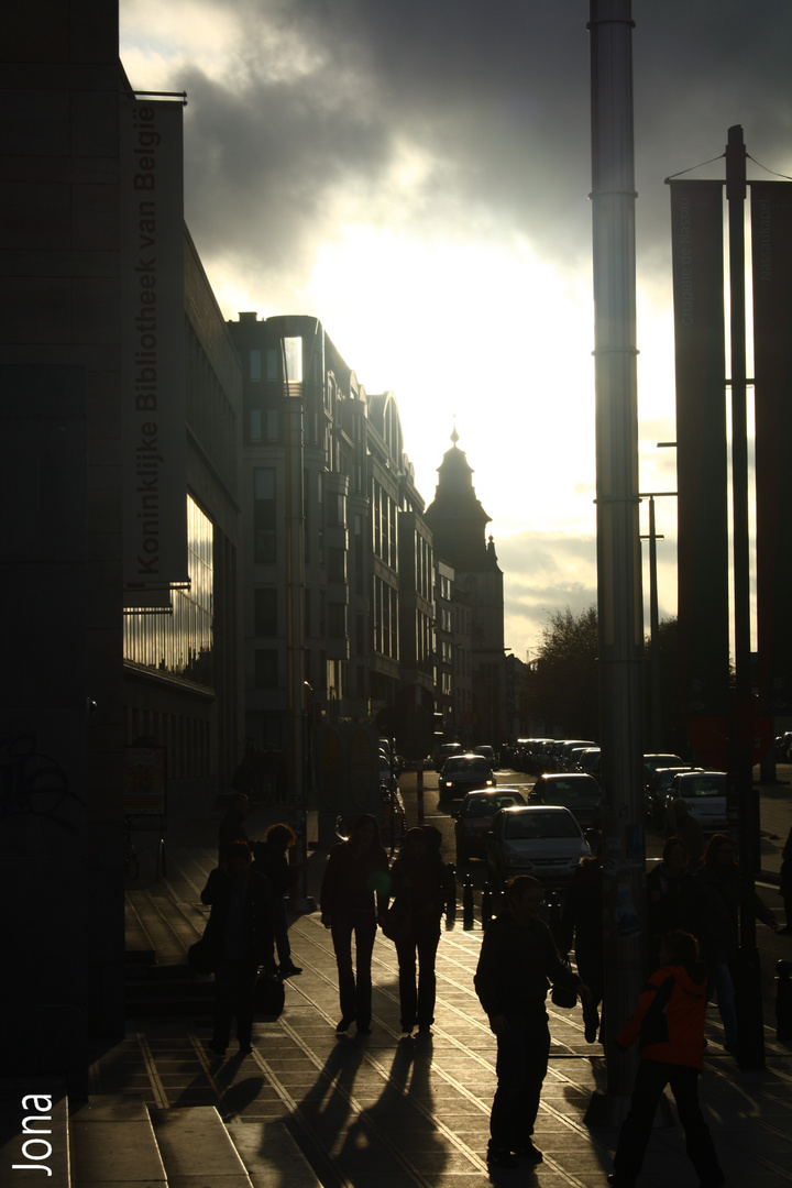
[[[748,413],[746,365],[746,146],[742,127],[729,128],[726,196],[729,204],[729,298],[731,331],[731,501],[734,565],[734,697],[729,729],[730,800],[739,804],[740,953],[735,978],[739,1060],[765,1063],[761,975],[754,915],[759,868],[759,801],[753,790],[753,704],[750,696],[750,545],[748,519]]]

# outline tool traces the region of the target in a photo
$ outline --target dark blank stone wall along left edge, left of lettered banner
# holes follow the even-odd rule
[[[123,1028],[116,5],[12,6],[0,53],[0,1048],[80,1093]]]

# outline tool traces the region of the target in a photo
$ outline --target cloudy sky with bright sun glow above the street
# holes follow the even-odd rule
[[[132,86],[188,93],[186,220],[224,315],[318,316],[367,391],[397,394],[426,503],[456,423],[519,656],[551,611],[596,601],[588,18],[587,0],[121,0]],[[673,491],[664,182],[722,178],[734,124],[749,178],[792,175],[792,2],[633,0],[633,18],[640,481]]]

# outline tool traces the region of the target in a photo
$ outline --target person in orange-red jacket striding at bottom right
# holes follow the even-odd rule
[[[667,933],[660,944],[660,968],[644,986],[635,1011],[616,1037],[620,1048],[629,1048],[636,1040],[640,1048],[629,1113],[608,1176],[608,1183],[616,1188],[632,1188],[638,1180],[666,1085],[673,1091],[688,1156],[702,1188],[726,1183],[698,1104],[705,1013],[707,968],[699,962],[698,941],[690,933]]]

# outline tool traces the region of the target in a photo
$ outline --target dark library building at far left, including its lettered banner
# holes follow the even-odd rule
[[[81,1097],[125,1035],[126,745],[164,741],[189,801],[237,734],[240,378],[180,103],[131,90],[116,6],[34,0],[4,34],[0,1049]]]

